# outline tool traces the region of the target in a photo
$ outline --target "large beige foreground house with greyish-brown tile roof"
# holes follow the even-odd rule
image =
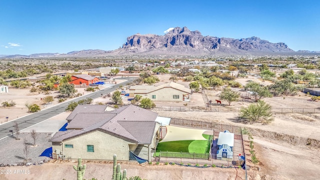
[[[160,123],[158,114],[135,105],[78,105],[66,118],[66,131],[49,140],[56,157],[129,160],[130,153],[151,160]],[[52,155],[53,156],[53,155]]]

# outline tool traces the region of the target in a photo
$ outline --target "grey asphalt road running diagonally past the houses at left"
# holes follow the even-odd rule
[[[98,91],[95,91],[95,92],[92,92],[92,93],[89,93],[89,94],[86,94],[86,95],[79,96],[79,97],[77,97],[75,99],[72,99],[70,101],[66,101],[66,102],[57,104],[57,105],[55,105],[53,107],[49,107],[49,108],[40,110],[38,112],[34,112],[34,113],[30,114],[30,115],[26,115],[24,117],[20,117],[20,118],[11,120],[11,121],[9,121],[7,123],[1,124],[0,125],[0,139],[11,135],[12,132],[9,132],[9,130],[13,130],[13,132],[15,132],[15,129],[13,127],[14,122],[17,122],[19,130],[22,130],[22,129],[26,128],[26,127],[29,127],[29,126],[34,125],[36,123],[39,123],[39,122],[41,122],[41,121],[43,121],[45,119],[48,119],[48,118],[50,118],[50,117],[52,117],[54,115],[62,113],[63,111],[65,111],[64,109],[67,107],[67,105],[72,101],[78,101],[78,100],[81,100],[81,99],[85,99],[87,97],[92,98],[92,99],[100,97],[101,93],[102,94],[107,94],[107,93],[113,91],[114,89],[116,89],[117,87],[119,87],[120,85],[123,85],[123,84],[131,82],[135,78],[134,77],[133,78],[132,77],[124,78],[123,77],[123,78],[119,78],[119,79],[126,79],[127,81],[115,84],[115,85],[113,85],[111,87],[107,87],[107,88],[104,88],[104,89],[101,89],[101,90],[98,90]]]

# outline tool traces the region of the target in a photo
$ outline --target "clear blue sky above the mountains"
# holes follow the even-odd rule
[[[132,34],[177,26],[320,50],[320,1],[0,0],[0,54],[113,50]]]

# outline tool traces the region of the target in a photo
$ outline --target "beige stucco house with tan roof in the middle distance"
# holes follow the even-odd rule
[[[184,85],[167,82],[159,86],[133,85],[129,88],[129,96],[142,95],[154,101],[190,101],[191,89]]]

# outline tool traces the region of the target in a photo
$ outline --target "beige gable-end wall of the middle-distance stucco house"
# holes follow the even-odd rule
[[[187,92],[183,92],[181,90],[172,88],[172,87],[164,87],[152,92],[148,92],[146,94],[140,94],[142,97],[148,97],[153,101],[182,101],[183,94]],[[155,98],[152,98],[152,95],[155,95]],[[179,98],[173,98],[173,95],[179,95]]]

